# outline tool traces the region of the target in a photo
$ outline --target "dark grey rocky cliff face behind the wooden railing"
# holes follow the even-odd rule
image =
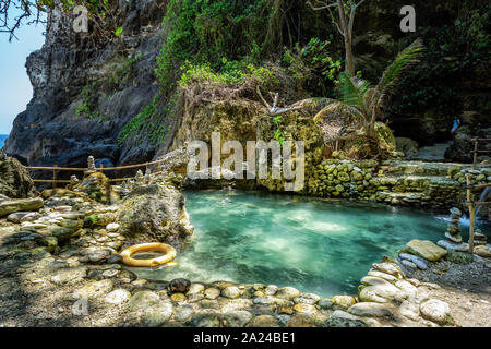
[[[55,11],[46,43],[26,62],[34,87],[27,109],[14,121],[5,152],[22,163],[105,166],[151,159],[146,145],[119,146],[121,129],[154,98],[163,1],[122,1],[123,35],[109,41],[76,34]],[[98,165],[98,164],[97,164]]]

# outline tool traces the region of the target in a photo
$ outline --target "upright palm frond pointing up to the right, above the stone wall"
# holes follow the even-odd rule
[[[403,73],[414,63],[418,62],[422,56],[424,46],[421,39],[416,39],[411,45],[405,48],[396,59],[388,65],[376,85],[376,91],[380,93],[378,105],[381,105],[383,99],[394,93],[394,87],[403,77]]]

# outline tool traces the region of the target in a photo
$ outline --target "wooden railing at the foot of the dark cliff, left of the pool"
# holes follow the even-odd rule
[[[109,171],[120,171],[120,170],[128,170],[128,169],[134,169],[134,168],[146,168],[146,171],[148,171],[149,166],[153,165],[158,165],[164,163],[166,159],[160,159],[160,160],[155,160],[155,161],[148,161],[148,163],[144,163],[144,164],[135,164],[135,165],[127,165],[127,166],[119,166],[119,167],[104,167],[103,164],[100,164],[99,168],[96,168],[97,171],[100,172],[109,172]],[[70,180],[60,180],[58,179],[58,173],[61,171],[70,171],[70,172],[85,172],[88,171],[88,167],[59,167],[57,165],[52,166],[52,167],[45,167],[45,166],[25,166],[24,167],[26,170],[32,170],[32,171],[52,171],[52,179],[33,179],[33,182],[35,183],[51,183],[52,188],[57,188],[58,183],[71,183]],[[159,174],[161,172],[158,173],[154,173],[154,174]],[[112,178],[109,179],[110,182],[124,182],[128,180],[134,180],[136,179],[135,177],[127,177],[127,178]]]

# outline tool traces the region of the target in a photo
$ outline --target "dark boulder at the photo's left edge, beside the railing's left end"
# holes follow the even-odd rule
[[[24,166],[13,157],[0,155],[0,194],[13,198],[33,197],[36,188]]]

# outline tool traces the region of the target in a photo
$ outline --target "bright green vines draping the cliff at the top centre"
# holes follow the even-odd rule
[[[156,68],[164,92],[173,89],[185,61],[202,73],[223,73],[218,76],[227,81],[256,62],[262,51],[258,43],[267,32],[267,2],[170,0],[163,20],[167,39]]]

